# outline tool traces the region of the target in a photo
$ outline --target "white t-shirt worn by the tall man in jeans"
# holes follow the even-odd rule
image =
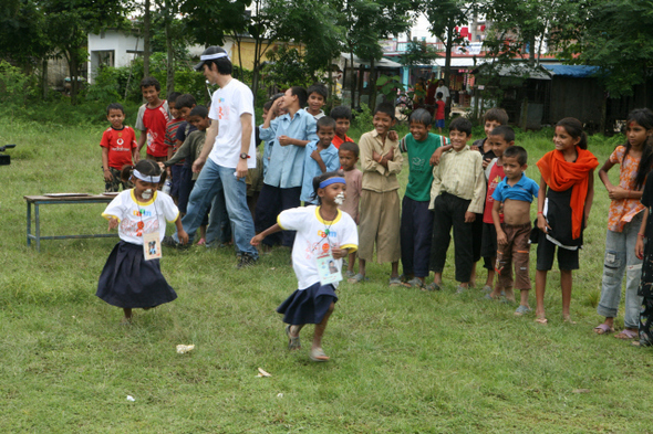
[[[234,169],[238,166],[242,144],[240,116],[246,113],[251,115],[251,137],[247,151],[250,158],[247,159],[247,167],[253,169],[256,168],[256,127],[251,89],[238,80],[231,78],[225,87],[214,93],[208,117],[219,123],[219,129],[209,158],[216,165]]]

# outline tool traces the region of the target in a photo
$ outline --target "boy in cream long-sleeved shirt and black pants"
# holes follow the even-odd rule
[[[476,214],[483,212],[485,176],[479,152],[467,146],[471,138],[471,123],[458,117],[449,125],[452,149],[444,152],[439,165],[433,169],[431,205],[433,210],[433,241],[431,269],[435,277],[429,290],[442,286],[442,272],[447,258],[450,230],[454,226],[457,294],[469,287],[474,263],[473,236]]]

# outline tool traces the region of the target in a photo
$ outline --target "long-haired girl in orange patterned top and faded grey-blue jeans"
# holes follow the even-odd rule
[[[650,142],[653,112],[647,108],[632,110],[625,125],[625,145],[618,146],[599,170],[599,178],[605,184],[612,201],[608,214],[601,301],[597,307],[597,313],[605,317],[605,320],[594,327],[594,332],[603,335],[614,331],[614,317],[619,311],[621,283],[625,273],[624,329],[614,337],[635,339],[642,306],[642,297],[638,296],[642,260],[635,254],[635,245],[638,231],[640,227],[645,229],[645,225],[642,226],[643,211],[646,209],[642,189],[653,162],[653,146]],[[618,186],[613,186],[608,177],[608,171],[614,165],[619,165]],[[643,234],[644,231],[640,233]]]

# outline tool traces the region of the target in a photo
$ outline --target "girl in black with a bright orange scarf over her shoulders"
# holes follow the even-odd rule
[[[562,317],[571,322],[571,272],[579,268],[578,250],[582,247],[582,230],[594,198],[594,169],[599,166],[597,157],[587,150],[588,138],[578,119],[566,117],[556,125],[553,145],[556,149],[537,162],[542,176],[538,194],[537,225],[540,234],[536,273],[536,321],[540,324],[547,324],[545,289],[556,247],[562,287]]]

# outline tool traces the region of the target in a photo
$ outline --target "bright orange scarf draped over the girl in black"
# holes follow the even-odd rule
[[[545,154],[537,163],[550,189],[564,191],[573,188],[569,205],[571,207],[571,235],[574,240],[580,236],[582,227],[590,172],[599,166],[599,160],[589,150],[577,146],[576,152],[578,155],[576,162],[564,161],[562,151],[552,150]]]

